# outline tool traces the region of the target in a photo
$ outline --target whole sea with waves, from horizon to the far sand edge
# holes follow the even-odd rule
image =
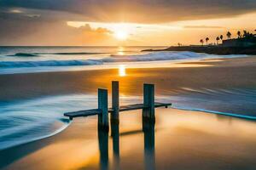
[[[116,68],[121,64],[152,67],[188,59],[246,57],[186,51],[142,52],[148,48],[165,47],[0,47],[0,74]]]

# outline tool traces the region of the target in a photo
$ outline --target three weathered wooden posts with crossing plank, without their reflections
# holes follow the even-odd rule
[[[157,103],[154,102],[154,84],[143,85],[143,104],[134,105],[119,105],[119,82],[112,82],[112,107],[108,108],[108,89],[98,89],[98,108],[85,111],[74,111],[64,113],[64,116],[68,116],[70,120],[74,117],[80,116],[98,116],[98,127],[108,129],[108,113],[111,115],[111,123],[119,124],[119,112],[143,110],[143,119],[153,120],[154,108],[168,107],[171,103]]]

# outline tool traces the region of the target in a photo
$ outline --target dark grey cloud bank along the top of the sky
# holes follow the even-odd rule
[[[159,23],[198,20],[255,12],[255,0],[2,0],[2,8],[59,11],[64,18],[105,22]],[[63,19],[63,15],[62,15]]]

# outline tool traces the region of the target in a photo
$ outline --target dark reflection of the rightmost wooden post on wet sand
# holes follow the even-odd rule
[[[146,170],[155,169],[154,119],[143,119],[144,164]]]

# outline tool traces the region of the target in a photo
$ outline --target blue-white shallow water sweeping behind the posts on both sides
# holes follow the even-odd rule
[[[109,99],[111,100],[111,99]],[[143,103],[141,97],[121,96],[121,105]],[[190,89],[176,95],[157,96],[156,101],[189,111],[256,119],[255,89]],[[64,112],[94,109],[96,95],[70,94],[0,103],[0,150],[60,132],[69,124]]]

